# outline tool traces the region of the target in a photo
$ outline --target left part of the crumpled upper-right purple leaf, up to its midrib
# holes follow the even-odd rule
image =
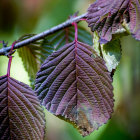
[[[121,23],[128,18],[129,0],[97,0],[88,9],[87,22],[91,30],[98,31],[101,43],[112,39],[112,34],[122,27]]]

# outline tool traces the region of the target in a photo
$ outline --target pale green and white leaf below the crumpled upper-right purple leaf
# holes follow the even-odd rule
[[[98,34],[94,32],[93,43],[93,47],[97,54],[101,56],[106,62],[108,71],[113,72],[113,70],[116,70],[121,59],[120,40],[115,38],[107,44],[100,44]]]

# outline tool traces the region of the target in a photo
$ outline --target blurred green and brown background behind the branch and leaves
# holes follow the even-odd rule
[[[94,0],[0,0],[0,40],[9,45],[24,33],[39,33],[57,25],[70,14],[86,12]],[[86,23],[80,23],[87,28]],[[82,138],[68,123],[46,111],[48,140],[138,140],[140,139],[140,42],[121,39],[122,58],[114,75],[115,112],[98,131]],[[0,45],[2,47],[2,45]],[[7,69],[0,56],[0,75]],[[15,53],[11,76],[29,84],[21,59]]]

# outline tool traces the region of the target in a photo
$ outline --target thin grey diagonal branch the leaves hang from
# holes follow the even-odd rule
[[[40,40],[40,39],[42,39],[42,38],[44,38],[44,37],[46,37],[46,36],[48,36],[50,34],[53,34],[53,33],[57,32],[57,31],[59,31],[61,29],[64,29],[64,28],[66,28],[68,26],[71,26],[73,22],[79,22],[80,19],[86,17],[86,15],[87,15],[87,13],[82,14],[82,15],[80,15],[78,17],[73,18],[73,19],[69,19],[69,20],[63,22],[62,24],[59,24],[59,25],[57,25],[57,26],[55,26],[55,27],[53,27],[53,28],[51,28],[49,30],[46,30],[46,31],[44,31],[42,33],[39,33],[39,34],[37,34],[37,35],[35,35],[35,36],[31,37],[31,38],[28,38],[26,40],[18,42],[18,43],[15,44],[14,49],[18,49],[20,47],[28,45],[28,44],[30,44],[30,43],[32,43],[34,41]],[[9,46],[9,47],[6,47],[6,48],[3,47],[2,49],[0,49],[0,55],[5,55],[6,53],[8,53],[11,50],[11,47],[12,46]]]

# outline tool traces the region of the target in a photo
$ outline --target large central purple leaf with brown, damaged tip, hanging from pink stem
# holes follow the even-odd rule
[[[111,83],[104,60],[90,46],[74,41],[42,64],[35,91],[48,111],[69,121],[86,136],[111,117]]]

